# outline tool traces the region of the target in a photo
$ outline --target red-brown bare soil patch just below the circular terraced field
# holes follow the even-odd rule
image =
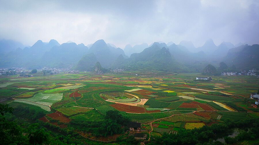
[[[130,105],[125,105],[125,104],[111,104],[113,108],[119,110],[119,111],[126,111],[130,113],[145,113],[145,109],[142,107],[137,107],[137,106],[130,106]]]

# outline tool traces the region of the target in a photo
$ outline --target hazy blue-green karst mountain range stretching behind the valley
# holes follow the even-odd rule
[[[47,43],[38,40],[29,48],[19,42],[1,40],[0,68],[65,68],[73,65],[79,71],[92,71],[96,62],[100,62],[103,68],[129,71],[201,72],[207,64],[218,67],[222,61],[238,69],[259,68],[258,44],[234,46],[222,42],[216,46],[212,39],[208,39],[198,48],[190,41],[182,41],[179,45],[154,42],[150,46],[142,43],[132,47],[127,44],[123,50],[98,40],[87,46],[72,41],[60,45],[56,40]]]

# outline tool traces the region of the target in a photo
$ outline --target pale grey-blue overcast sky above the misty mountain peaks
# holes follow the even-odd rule
[[[124,48],[156,41],[259,44],[258,0],[0,0],[0,39]]]

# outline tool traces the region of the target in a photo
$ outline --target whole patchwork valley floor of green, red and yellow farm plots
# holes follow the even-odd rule
[[[125,74],[79,72],[39,74],[30,78],[5,76],[0,85],[0,98],[10,97],[3,103],[15,104],[14,109],[22,104],[51,111],[37,119],[62,129],[55,131],[80,133],[104,141],[121,136],[108,135],[107,139],[96,133],[110,110],[142,123],[145,128],[141,130],[146,132],[151,131],[152,125],[151,136],[162,136],[163,132],[178,135],[186,129],[222,124],[228,119],[237,122],[259,118],[256,113],[259,106],[251,106],[255,100],[250,99],[250,94],[259,88],[254,76],[213,76],[213,81],[206,82],[191,79],[200,76],[192,73]],[[26,111],[30,112],[30,108]]]

